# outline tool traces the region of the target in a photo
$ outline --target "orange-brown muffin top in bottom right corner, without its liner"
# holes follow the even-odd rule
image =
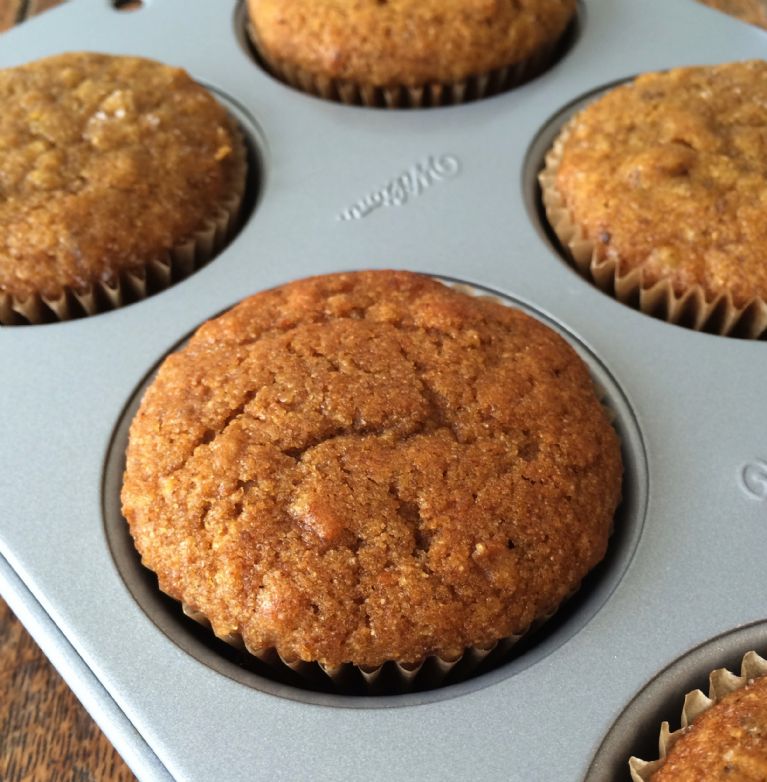
[[[725,695],[679,737],[651,782],[767,779],[767,676]]]

